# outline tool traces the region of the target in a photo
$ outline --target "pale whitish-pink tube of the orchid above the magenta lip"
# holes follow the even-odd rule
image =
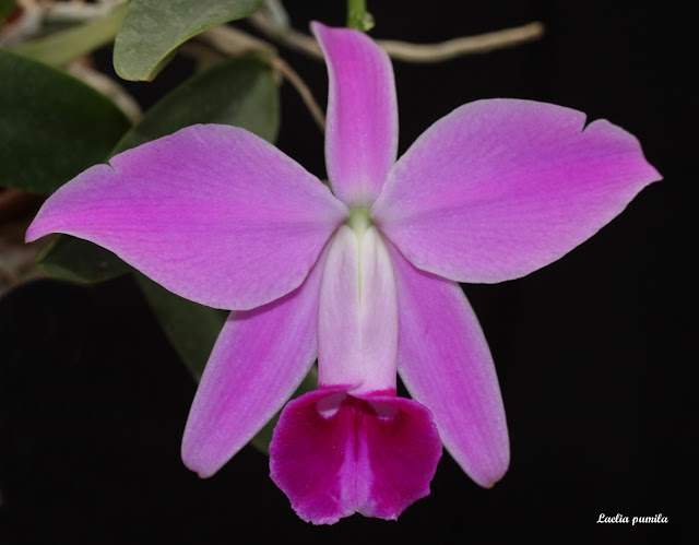
[[[398,305],[391,258],[375,227],[342,226],[330,242],[320,289],[318,380],[358,395],[395,393]]]

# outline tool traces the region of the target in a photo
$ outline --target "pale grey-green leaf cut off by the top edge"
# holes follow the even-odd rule
[[[261,7],[262,0],[132,0],[117,34],[115,70],[125,80],[151,81],[189,38]]]

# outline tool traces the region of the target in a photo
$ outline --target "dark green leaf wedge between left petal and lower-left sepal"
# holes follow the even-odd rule
[[[183,299],[141,273],[135,279],[165,335],[199,381],[228,311]]]

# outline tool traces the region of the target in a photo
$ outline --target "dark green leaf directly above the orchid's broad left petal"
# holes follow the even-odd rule
[[[186,81],[123,135],[112,155],[194,123],[234,125],[274,141],[279,87],[264,57],[228,59]]]

